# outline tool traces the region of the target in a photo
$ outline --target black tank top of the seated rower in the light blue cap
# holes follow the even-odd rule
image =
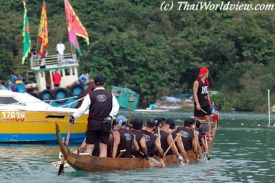
[[[126,152],[122,153],[120,158],[131,158],[131,151],[133,147],[133,133],[126,129],[119,129],[120,133],[120,144],[118,144],[118,153],[120,154],[120,150],[126,149]]]

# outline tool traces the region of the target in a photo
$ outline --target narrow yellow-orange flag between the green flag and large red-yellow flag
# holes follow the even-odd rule
[[[48,36],[47,36],[47,8],[46,8],[45,1],[43,2],[42,11],[41,11],[38,38],[42,42],[40,54],[41,56],[44,56],[45,47],[49,46]]]

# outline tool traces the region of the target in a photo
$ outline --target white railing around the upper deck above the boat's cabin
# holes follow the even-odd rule
[[[76,54],[63,54],[63,58],[61,59],[60,63],[58,63],[58,56],[57,55],[50,55],[45,58],[31,58],[31,69],[43,68],[43,67],[56,67],[61,65],[67,64],[77,64],[78,58]]]

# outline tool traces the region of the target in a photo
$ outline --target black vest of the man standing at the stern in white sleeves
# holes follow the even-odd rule
[[[88,129],[87,131],[107,131],[111,126],[103,122],[109,116],[112,109],[112,94],[105,89],[96,89],[90,94],[91,105],[89,106]]]

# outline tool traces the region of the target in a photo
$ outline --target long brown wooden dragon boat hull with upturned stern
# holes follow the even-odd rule
[[[56,123],[56,136],[58,138],[59,146],[63,157],[67,163],[75,170],[84,171],[115,171],[124,169],[143,169],[151,168],[152,164],[144,158],[102,158],[90,155],[78,155],[69,151],[69,147],[63,142],[63,138]],[[208,142],[208,148],[212,148],[212,140]],[[203,149],[201,149],[203,151]],[[196,155],[193,151],[187,151],[188,160],[196,160]],[[156,157],[155,160],[160,160]],[[176,155],[166,155],[164,158],[166,166],[170,164],[179,164]],[[161,164],[155,164],[154,167],[161,167]]]

